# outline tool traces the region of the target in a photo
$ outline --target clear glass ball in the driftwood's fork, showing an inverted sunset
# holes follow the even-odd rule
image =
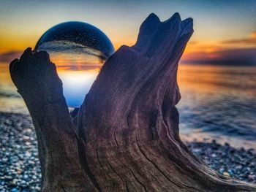
[[[69,107],[79,107],[107,58],[114,53],[110,39],[98,28],[83,22],[53,26],[37,42],[56,64]]]

